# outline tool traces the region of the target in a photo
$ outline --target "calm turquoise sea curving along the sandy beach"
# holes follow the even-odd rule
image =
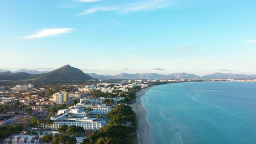
[[[256,82],[157,85],[141,102],[154,144],[256,144]]]

